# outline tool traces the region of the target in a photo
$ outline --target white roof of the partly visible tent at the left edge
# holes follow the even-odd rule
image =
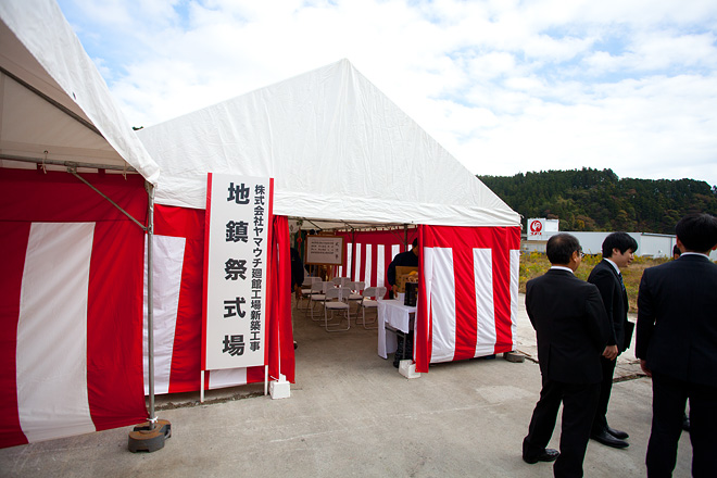
[[[0,162],[134,167],[158,164],[113,102],[53,0],[0,2]]]

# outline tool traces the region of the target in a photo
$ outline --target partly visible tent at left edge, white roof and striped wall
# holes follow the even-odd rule
[[[147,418],[138,338],[159,177],[58,4],[2,0],[0,446]]]

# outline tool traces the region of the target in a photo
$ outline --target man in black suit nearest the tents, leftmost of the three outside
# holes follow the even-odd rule
[[[600,356],[607,343],[607,316],[600,291],[575,276],[582,250],[575,236],[552,236],[552,267],[529,280],[526,310],[538,338],[540,400],[523,440],[527,463],[555,462],[556,477],[582,476],[582,461],[600,393]],[[561,451],[545,449],[563,403]]]

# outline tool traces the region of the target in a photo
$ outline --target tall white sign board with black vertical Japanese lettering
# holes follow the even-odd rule
[[[264,365],[271,179],[206,184],[204,369]]]

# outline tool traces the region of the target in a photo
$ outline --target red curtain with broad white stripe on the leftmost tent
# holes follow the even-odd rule
[[[83,176],[147,224],[141,176]],[[0,169],[0,446],[147,419],[143,240],[67,173]]]

